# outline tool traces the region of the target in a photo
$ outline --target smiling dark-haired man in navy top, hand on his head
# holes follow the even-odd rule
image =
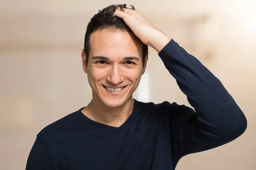
[[[154,48],[195,108],[132,98]],[[112,5],[87,26],[87,107],[45,127],[26,170],[174,170],[183,156],[239,137],[244,113],[221,82],[140,11]]]

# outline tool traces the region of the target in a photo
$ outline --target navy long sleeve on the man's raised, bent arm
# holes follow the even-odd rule
[[[171,40],[158,54],[192,108],[163,103],[172,113],[172,152],[177,159],[226,144],[247,128],[244,113],[222,83],[201,62]],[[177,162],[176,162],[177,163]]]

